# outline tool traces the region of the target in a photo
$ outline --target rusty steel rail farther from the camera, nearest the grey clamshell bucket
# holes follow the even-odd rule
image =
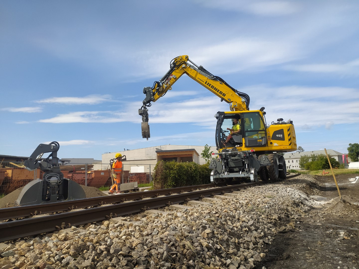
[[[223,185],[223,184],[222,184]],[[126,200],[138,200],[160,195],[171,195],[173,193],[188,192],[202,188],[213,188],[215,184],[202,184],[195,186],[177,187],[171,189],[149,190],[146,192],[133,192],[125,194],[116,194],[100,196],[94,198],[85,198],[78,200],[69,200],[64,202],[44,203],[31,206],[20,206],[0,209],[0,220],[11,220],[16,218],[31,217],[38,214],[48,214],[54,212],[69,211],[72,209],[97,207],[103,204],[121,203]]]

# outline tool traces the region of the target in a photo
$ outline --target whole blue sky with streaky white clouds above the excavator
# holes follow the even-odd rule
[[[60,158],[164,144],[215,146],[229,105],[183,75],[138,109],[177,56],[295,126],[298,146],[346,153],[359,133],[359,2],[0,1],[0,154],[58,141]]]

